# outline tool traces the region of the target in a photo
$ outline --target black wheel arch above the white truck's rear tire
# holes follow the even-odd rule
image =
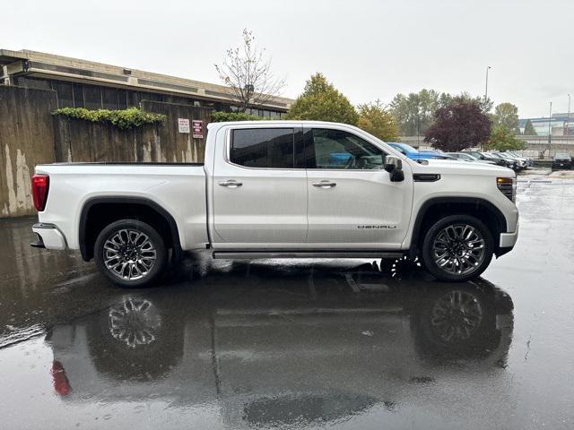
[[[94,214],[93,211],[103,211],[103,209],[114,209],[116,212],[108,214],[105,219],[98,221],[90,219],[90,215]],[[137,209],[142,209],[143,212],[138,213]],[[83,260],[87,262],[93,258],[93,245],[102,228],[113,221],[130,216],[141,217],[142,220],[148,222],[152,219],[152,227],[159,228],[161,230],[160,233],[169,234],[170,243],[168,246],[173,249],[174,258],[178,259],[181,257],[183,251],[179,241],[178,224],[170,212],[162,208],[160,204],[145,197],[101,196],[93,197],[84,202],[80,212],[78,242]],[[154,223],[153,220],[156,222]],[[93,228],[91,228],[92,226]]]

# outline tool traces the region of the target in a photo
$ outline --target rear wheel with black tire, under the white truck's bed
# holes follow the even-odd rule
[[[136,241],[140,243],[144,236],[147,236],[145,239],[146,242],[144,242],[146,245],[144,245],[145,247],[143,249],[140,248],[138,251],[137,244],[130,244],[132,247],[126,251],[129,253],[135,253],[135,256],[130,257],[132,259],[131,261],[133,262],[128,262],[127,265],[135,265],[135,270],[140,271],[142,274],[142,276],[138,277],[139,275],[134,272],[133,279],[130,279],[132,269],[129,267],[126,267],[126,271],[118,268],[122,271],[122,274],[120,274],[117,271],[109,268],[109,266],[106,264],[106,260],[109,260],[110,258],[110,251],[109,248],[106,249],[104,245],[106,245],[107,242],[109,243],[109,240],[114,240],[117,242],[117,239],[114,239],[114,237],[117,237],[118,234],[125,235],[126,233],[124,232],[129,232],[127,233],[128,235],[131,235],[132,233],[143,234],[143,236],[140,236],[142,239]],[[130,242],[130,239],[127,238],[126,242]],[[124,258],[119,246],[117,247],[117,250],[115,248],[114,253],[120,256],[116,260],[110,262],[109,265],[112,265],[115,262],[121,262],[121,259]],[[138,252],[143,254],[143,259],[141,258],[141,254],[137,254]],[[151,263],[150,267],[147,268],[146,265],[143,265],[142,261],[145,261],[145,264],[150,264],[150,261],[152,261],[153,252],[155,252],[155,260]],[[136,256],[139,256],[140,258],[135,258]],[[168,260],[168,250],[166,248],[165,242],[161,238],[160,234],[155,230],[155,228],[152,228],[150,225],[137,219],[120,219],[119,221],[109,224],[108,227],[100,231],[100,235],[98,235],[96,244],[94,245],[94,260],[98,270],[114,284],[117,284],[123,288],[139,288],[152,284],[152,282],[157,280],[157,278],[161,275]],[[139,268],[143,268],[143,271]],[[128,274],[127,277],[125,276],[126,274]]]

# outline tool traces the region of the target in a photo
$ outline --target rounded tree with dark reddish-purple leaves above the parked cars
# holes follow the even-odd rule
[[[487,142],[490,134],[491,120],[476,101],[455,100],[436,110],[424,142],[440,150],[458,151]]]

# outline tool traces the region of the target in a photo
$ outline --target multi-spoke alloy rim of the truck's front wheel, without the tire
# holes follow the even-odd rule
[[[451,224],[432,243],[432,258],[443,271],[455,275],[473,272],[484,260],[486,243],[481,232],[468,224]]]

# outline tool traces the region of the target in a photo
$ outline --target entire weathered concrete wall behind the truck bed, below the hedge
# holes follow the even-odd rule
[[[120,130],[113,125],[52,116],[56,93],[0,85],[0,218],[32,215],[30,177],[41,163],[204,160],[211,109],[143,101],[168,116],[164,125]],[[204,138],[178,133],[178,118],[204,121]]]

